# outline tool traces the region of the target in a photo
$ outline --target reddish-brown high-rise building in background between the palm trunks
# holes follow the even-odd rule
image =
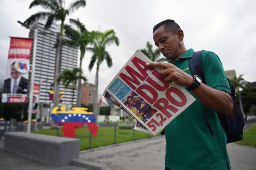
[[[81,104],[88,106],[89,104],[93,104],[94,99],[94,84],[87,83],[82,84],[81,86]]]

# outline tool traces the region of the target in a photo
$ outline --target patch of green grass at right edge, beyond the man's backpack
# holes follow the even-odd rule
[[[243,133],[243,139],[235,142],[238,145],[256,147],[256,126],[252,126]]]

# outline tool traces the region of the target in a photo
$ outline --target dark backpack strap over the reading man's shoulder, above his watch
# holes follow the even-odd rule
[[[202,79],[202,82],[206,84],[201,58],[202,51],[194,52],[193,56],[189,59],[189,70],[192,76],[198,75]]]

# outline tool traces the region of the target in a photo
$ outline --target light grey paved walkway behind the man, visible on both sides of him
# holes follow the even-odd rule
[[[150,148],[150,150],[149,150]],[[228,144],[232,170],[256,170],[256,148]],[[165,138],[108,147],[80,154],[80,159],[107,165],[111,170],[164,170]]]

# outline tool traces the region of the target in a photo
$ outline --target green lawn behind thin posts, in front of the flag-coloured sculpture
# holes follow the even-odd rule
[[[31,131],[31,133],[56,136],[57,129],[40,129]],[[134,133],[133,137],[133,129],[119,129],[116,127],[116,143],[132,141],[133,138],[137,140],[154,137],[154,135],[140,131],[134,131]],[[59,136],[62,136],[62,128],[59,129]],[[114,144],[114,136],[114,127],[98,127],[97,136],[92,137],[91,148]],[[76,139],[80,139],[80,150],[90,149],[90,131],[88,131],[88,128],[76,128]]]

